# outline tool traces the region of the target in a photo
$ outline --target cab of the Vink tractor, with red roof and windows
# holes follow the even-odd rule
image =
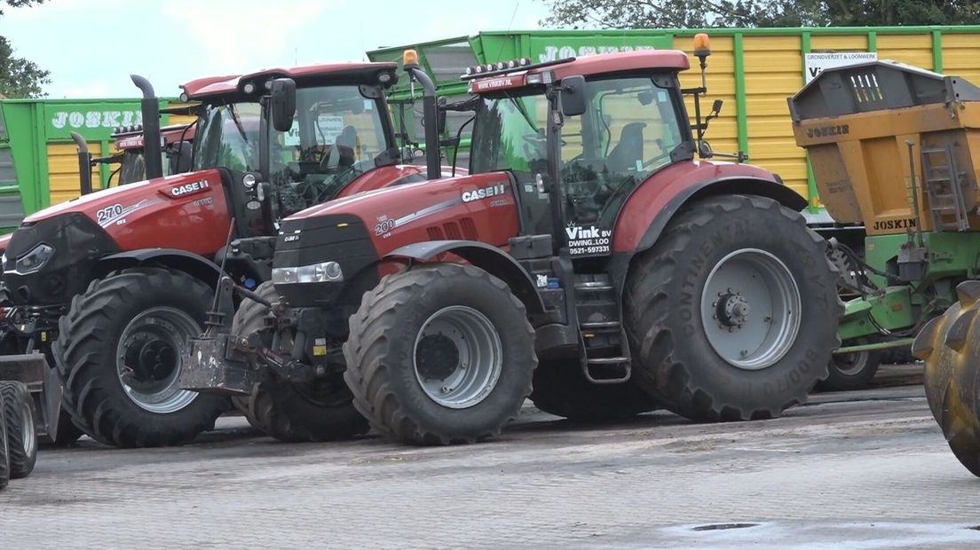
[[[551,232],[550,181],[561,182],[556,213],[576,241],[586,229],[611,231],[624,201],[643,181],[674,161],[693,158],[677,80],[687,57],[658,52],[651,64],[651,55],[635,56],[643,60],[635,67],[629,56],[618,56],[616,67],[596,57],[573,65],[564,60],[530,66],[521,60],[490,75],[486,69],[492,66],[468,71],[470,92],[477,95],[469,171],[514,175],[525,231]],[[575,84],[556,84],[568,76]],[[574,112],[568,110],[569,95],[575,97]],[[551,158],[549,139],[557,150]],[[607,240],[605,246],[572,246],[569,252],[609,253],[608,245]]]

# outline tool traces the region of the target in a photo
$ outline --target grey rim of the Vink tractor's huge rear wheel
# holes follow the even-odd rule
[[[800,290],[779,258],[742,249],[721,258],[705,281],[701,322],[722,359],[744,370],[772,366],[800,331]]]

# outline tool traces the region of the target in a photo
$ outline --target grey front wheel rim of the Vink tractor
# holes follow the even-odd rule
[[[490,319],[471,307],[453,305],[433,313],[418,331],[413,367],[428,398],[465,409],[497,386],[503,359],[500,335]]]

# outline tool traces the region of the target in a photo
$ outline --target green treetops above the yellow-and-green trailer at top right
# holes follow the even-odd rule
[[[541,0],[548,26],[876,26],[980,23],[978,0]]]

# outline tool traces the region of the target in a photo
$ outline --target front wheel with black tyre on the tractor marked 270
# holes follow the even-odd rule
[[[228,398],[179,388],[181,354],[213,297],[161,267],[125,269],[74,297],[53,345],[74,424],[119,447],[178,445],[213,429]]]

